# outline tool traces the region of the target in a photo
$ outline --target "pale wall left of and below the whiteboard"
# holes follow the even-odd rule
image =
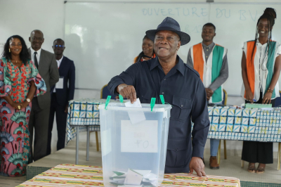
[[[77,0],[82,1],[82,0]],[[88,0],[91,1],[91,0]],[[105,0],[104,0],[105,1]],[[117,0],[111,0],[117,1]],[[123,0],[130,1],[130,0]],[[132,1],[132,0],[131,0]],[[143,0],[148,1],[151,0]],[[155,1],[168,1],[168,0],[155,0]],[[188,0],[177,0],[168,2],[186,2]],[[204,3],[204,0],[190,1],[195,3]],[[228,0],[215,0],[215,2],[229,3]],[[237,2],[247,2],[247,3],[259,3],[264,4],[264,0],[249,0],[249,1],[232,1]],[[270,0],[267,3],[280,3],[280,0]],[[19,34],[24,37],[27,42],[27,46],[30,47],[30,42],[28,37],[32,30],[38,29],[44,32],[44,44],[43,49],[47,51],[52,51],[51,46],[53,45],[53,40],[56,38],[64,39],[64,1],[63,0],[0,0],[0,51],[3,51],[2,45],[6,42],[6,39],[13,34]],[[187,20],[188,21],[188,20]],[[67,44],[66,44],[67,47]],[[67,48],[65,49],[67,50]],[[75,62],[75,65],[79,65],[79,62]],[[98,80],[91,80],[97,82]],[[98,90],[86,91],[86,90],[76,90],[74,98],[99,98],[100,92]],[[229,98],[228,103],[239,105],[243,101],[241,98],[232,97]],[[56,129],[56,127],[53,127]],[[85,135],[85,134],[84,134]],[[86,137],[80,136],[81,141],[86,141]],[[55,150],[55,141],[57,134],[53,132],[52,146]],[[94,140],[95,138],[91,138]],[[274,145],[274,150],[277,151],[277,143]],[[207,143],[207,148],[209,148],[209,143]],[[241,150],[241,141],[228,141],[228,148],[233,150]]]

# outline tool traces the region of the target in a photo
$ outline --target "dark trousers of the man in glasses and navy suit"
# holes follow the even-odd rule
[[[50,118],[48,120],[48,145],[47,145],[47,155],[51,154],[51,139],[53,130],[53,120],[57,122],[58,130],[58,143],[57,150],[65,148],[65,132],[67,123],[67,113],[65,113],[65,105],[59,105],[56,93],[52,93],[51,96],[51,108],[50,108]]]

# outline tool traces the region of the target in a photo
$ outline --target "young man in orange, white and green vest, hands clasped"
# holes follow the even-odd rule
[[[192,46],[188,52],[187,64],[200,74],[205,86],[207,101],[209,103],[222,103],[223,86],[228,79],[228,50],[223,46],[215,44],[216,27],[208,22],[202,28],[203,41]],[[219,169],[216,155],[218,153],[218,139],[210,139],[211,157],[209,166],[211,169]]]

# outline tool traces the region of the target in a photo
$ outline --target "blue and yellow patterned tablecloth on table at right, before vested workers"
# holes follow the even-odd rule
[[[281,142],[280,110],[208,108],[208,138]]]

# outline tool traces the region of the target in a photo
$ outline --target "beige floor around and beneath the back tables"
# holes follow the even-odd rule
[[[252,174],[247,172],[248,163],[244,163],[244,168],[241,168],[240,157],[228,157],[227,160],[222,159],[220,169],[209,169],[209,155],[205,156],[205,172],[209,175],[218,176],[233,176],[241,181],[256,181],[266,183],[281,183],[281,171],[277,171],[277,160],[274,160],[272,165],[266,166],[266,172],[264,174]],[[65,148],[59,150],[52,155],[38,160],[32,163],[30,166],[34,167],[54,167],[60,164],[74,164],[75,162],[75,148]],[[79,150],[79,165],[97,165],[101,166],[101,153],[96,152],[96,148],[90,148],[90,161],[86,161],[86,149],[80,148]],[[25,176],[22,177],[3,177],[0,176],[0,187],[16,186],[19,183],[25,181]],[[281,184],[280,184],[281,186]],[[244,187],[244,186],[242,186]]]

